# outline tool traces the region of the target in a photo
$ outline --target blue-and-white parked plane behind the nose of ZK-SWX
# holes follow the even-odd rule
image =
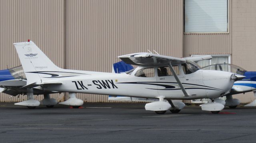
[[[217,70],[217,71],[228,71],[236,74],[244,75],[245,78],[234,82],[232,90],[229,94],[226,95],[226,104],[230,108],[236,108],[240,104],[240,100],[233,99],[232,95],[253,92],[256,98],[256,71],[246,71],[245,69],[238,67],[237,65],[231,64],[213,64],[206,67],[203,67],[205,70]],[[256,100],[246,104],[245,106],[256,106]]]

